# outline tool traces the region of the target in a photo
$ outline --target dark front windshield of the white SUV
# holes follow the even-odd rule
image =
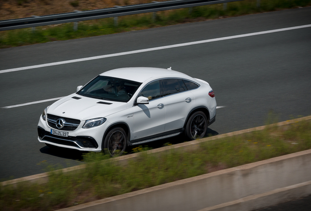
[[[108,76],[97,76],[77,94],[101,100],[128,102],[141,83]]]

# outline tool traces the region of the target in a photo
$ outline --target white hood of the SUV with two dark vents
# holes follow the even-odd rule
[[[108,103],[110,105],[99,104],[98,102]],[[127,103],[105,101],[72,94],[53,103],[47,109],[47,113],[83,121],[98,117],[107,117],[126,108]]]

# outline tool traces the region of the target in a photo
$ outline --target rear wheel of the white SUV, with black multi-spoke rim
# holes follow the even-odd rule
[[[187,124],[185,133],[190,140],[203,138],[207,130],[207,118],[202,111],[193,113]]]

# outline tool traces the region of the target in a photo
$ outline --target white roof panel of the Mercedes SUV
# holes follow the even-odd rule
[[[176,77],[176,78],[192,79],[190,76],[175,70],[155,68],[155,67],[119,68],[104,72],[100,75],[122,78],[140,83],[143,83],[148,79],[158,79],[158,78]]]

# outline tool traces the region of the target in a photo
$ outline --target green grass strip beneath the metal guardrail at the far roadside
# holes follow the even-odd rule
[[[79,1],[70,2],[77,4]],[[244,0],[228,3],[226,10],[223,10],[222,4],[213,4],[193,7],[191,13],[188,8],[161,11],[156,13],[155,20],[151,13],[123,16],[118,18],[117,26],[114,26],[113,18],[83,21],[79,22],[77,31],[73,30],[73,23],[40,26],[36,27],[36,30],[26,28],[3,31],[0,32],[0,48],[107,35],[311,5],[311,0],[261,0],[260,2],[260,7],[257,7],[257,0]]]

